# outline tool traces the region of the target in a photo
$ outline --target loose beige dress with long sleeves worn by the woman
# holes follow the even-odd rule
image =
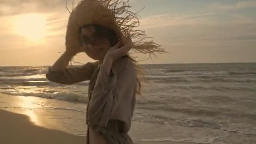
[[[112,64],[111,74],[98,62],[67,67],[61,72],[49,68],[48,80],[74,84],[90,80],[86,110],[87,144],[133,144],[127,134],[135,107],[136,70],[123,57]]]

